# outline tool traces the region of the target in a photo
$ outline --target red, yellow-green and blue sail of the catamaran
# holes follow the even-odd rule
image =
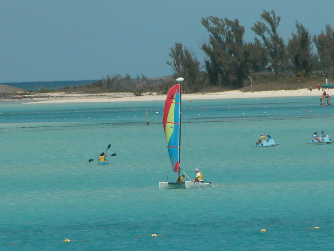
[[[180,84],[170,88],[165,101],[162,123],[165,130],[167,149],[174,172],[179,170],[180,151]]]

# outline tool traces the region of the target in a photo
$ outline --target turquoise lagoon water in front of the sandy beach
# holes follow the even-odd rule
[[[0,101],[0,250],[333,250],[334,145],[306,144],[333,105],[185,100],[181,167],[213,187],[163,190],[164,101],[29,102]]]

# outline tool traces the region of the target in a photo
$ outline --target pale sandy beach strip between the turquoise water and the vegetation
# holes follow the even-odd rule
[[[38,97],[40,95],[40,97]],[[279,90],[241,92],[238,90],[215,92],[215,93],[193,93],[183,94],[183,100],[191,99],[228,99],[228,98],[266,98],[266,97],[318,97],[321,98],[322,91],[313,89]],[[82,102],[130,102],[130,101],[159,101],[165,100],[166,95],[144,93],[142,96],[134,96],[133,93],[104,93],[104,94],[80,94],[80,93],[43,93],[35,94],[21,99],[8,99],[8,101],[27,101],[24,104],[45,103],[82,103]]]

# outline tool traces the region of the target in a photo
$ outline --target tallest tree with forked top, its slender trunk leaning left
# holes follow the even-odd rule
[[[285,70],[287,64],[284,40],[277,33],[277,27],[280,24],[281,17],[276,17],[274,10],[271,12],[263,10],[260,16],[269,26],[258,21],[254,23],[251,29],[256,35],[262,38],[269,55],[271,68],[275,71],[275,74],[278,75],[279,72]]]

